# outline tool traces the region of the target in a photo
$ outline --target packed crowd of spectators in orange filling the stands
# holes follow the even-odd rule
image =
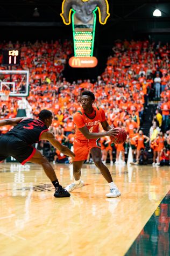
[[[150,130],[149,146],[155,151],[160,131],[165,133],[169,129],[169,45],[149,43],[145,41],[116,41],[112,48],[112,55],[108,57],[107,67],[96,81],[77,80],[72,83],[62,77],[62,70],[68,56],[72,53],[72,44],[69,41],[44,43],[16,44],[2,43],[1,49],[15,47],[22,50],[21,65],[17,69],[30,71],[30,95],[27,97],[32,108],[32,117],[38,117],[41,109],[46,108],[53,112],[54,121],[50,128],[56,138],[71,148],[74,140],[73,115],[81,108],[81,93],[84,89],[93,91],[96,97],[95,104],[105,109],[107,120],[111,126],[125,127],[129,134],[129,141],[122,146],[116,146],[117,153],[124,157],[131,144],[134,161],[139,163],[141,149],[145,148],[140,127],[143,124],[144,110],[148,108],[148,101],[157,100],[158,107],[155,120]],[[1,57],[0,57],[1,63]],[[1,69],[4,67],[1,66]],[[1,101],[1,118],[15,117],[17,114],[17,99],[9,98],[8,102]],[[155,126],[158,133],[154,132]],[[1,133],[6,133],[9,127],[2,127]],[[168,133],[168,132],[167,132]],[[152,137],[152,139],[151,139]],[[166,136],[163,137],[166,141]],[[105,143],[107,142],[107,143]],[[154,144],[154,146],[153,146]],[[165,146],[165,143],[163,143]],[[107,152],[113,148],[111,141],[106,138],[102,142],[103,161],[107,161]],[[115,147],[115,146],[114,146]],[[158,146],[159,147],[159,146]],[[160,163],[161,153],[153,154],[154,164]],[[139,152],[138,152],[139,151]],[[58,160],[61,156],[56,152]],[[167,157],[169,151],[166,149]],[[118,163],[119,154],[116,156]],[[157,159],[157,160],[156,160]],[[56,160],[56,157],[55,157]],[[169,160],[169,158],[168,158]],[[90,161],[90,156],[88,161]],[[111,159],[111,164],[113,161]],[[125,164],[125,158],[123,158]]]

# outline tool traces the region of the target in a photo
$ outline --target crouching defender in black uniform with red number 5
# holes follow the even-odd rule
[[[60,144],[54,135],[48,131],[52,120],[52,113],[45,109],[39,113],[38,120],[25,117],[1,120],[0,126],[10,125],[14,126],[14,128],[3,137],[0,137],[0,162],[12,156],[21,164],[25,164],[27,161],[41,164],[47,177],[55,187],[54,196],[69,197],[70,193],[59,184],[55,171],[47,158],[40,151],[30,146],[40,140],[47,140],[54,148],[59,149],[61,153],[74,159],[75,154],[66,146]]]

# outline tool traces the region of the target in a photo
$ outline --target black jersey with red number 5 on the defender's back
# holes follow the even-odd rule
[[[13,127],[6,135],[13,135],[20,140],[31,145],[37,143],[42,133],[47,132],[48,128],[44,122],[37,119],[23,119],[17,126]]]

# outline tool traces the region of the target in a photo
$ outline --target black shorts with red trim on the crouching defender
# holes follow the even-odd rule
[[[35,148],[27,145],[27,143],[17,137],[12,135],[4,135],[0,137],[0,162],[9,156],[12,156],[19,163],[24,165],[35,153]]]

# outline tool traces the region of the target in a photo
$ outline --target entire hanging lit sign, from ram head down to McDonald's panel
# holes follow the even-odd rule
[[[74,57],[69,59],[71,67],[88,68],[97,65],[93,56],[96,12],[104,25],[110,16],[108,0],[63,0],[61,7],[63,23],[73,26]]]

